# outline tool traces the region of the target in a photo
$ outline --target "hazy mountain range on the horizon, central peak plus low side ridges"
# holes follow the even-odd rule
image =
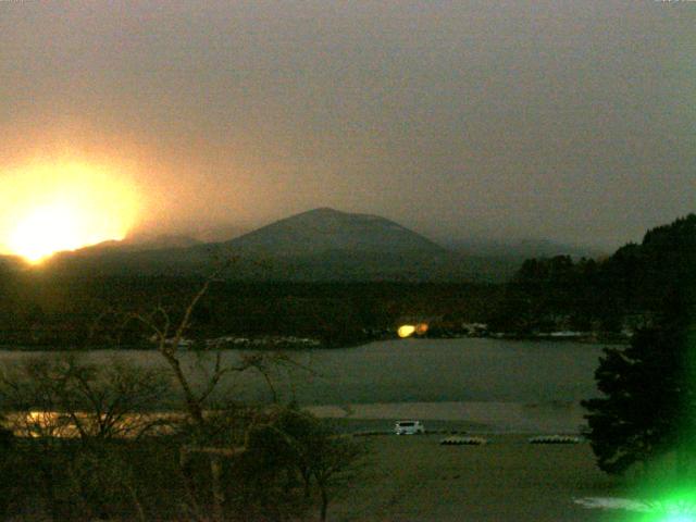
[[[197,243],[186,236],[110,243],[64,252],[44,270],[62,274],[210,274],[234,258],[227,277],[297,282],[508,281],[523,257],[514,251],[453,250],[377,215],[322,208],[271,223],[235,239]]]

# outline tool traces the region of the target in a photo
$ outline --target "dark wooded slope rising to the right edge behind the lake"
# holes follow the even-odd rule
[[[696,312],[696,214],[648,231],[601,261],[529,259],[508,285],[500,331],[619,331],[666,309]]]

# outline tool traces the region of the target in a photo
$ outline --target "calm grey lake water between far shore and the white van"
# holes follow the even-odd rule
[[[576,402],[596,395],[594,371],[601,346],[577,343],[533,343],[502,339],[406,339],[333,349],[288,352],[311,369],[282,370],[274,383],[285,398],[303,405],[360,402]],[[0,351],[0,363],[49,352]],[[127,360],[166,368],[156,351],[101,350],[85,359],[109,364]],[[211,353],[183,353],[186,372],[202,382],[211,369]],[[227,362],[239,352],[225,351]],[[162,398],[164,407],[176,400],[174,388]],[[259,375],[232,375],[219,398],[269,398]]]

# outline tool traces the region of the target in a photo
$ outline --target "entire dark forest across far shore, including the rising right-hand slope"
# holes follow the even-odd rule
[[[426,322],[427,335],[465,335],[464,325],[534,336],[555,331],[630,333],[648,326],[666,299],[693,288],[696,215],[650,229],[606,259],[529,259],[494,283],[259,282],[220,278],[195,311],[188,335],[294,336],[323,347],[396,335]],[[128,318],[164,307],[176,315],[203,276],[90,276],[0,265],[0,345],[41,348],[147,348]],[[605,335],[602,340],[609,337]]]

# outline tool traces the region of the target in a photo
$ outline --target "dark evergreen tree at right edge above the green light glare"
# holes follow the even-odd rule
[[[636,332],[630,346],[605,348],[595,372],[604,397],[583,401],[593,451],[608,473],[673,450],[682,464],[695,455],[694,331],[686,307],[671,309],[670,321]]]

